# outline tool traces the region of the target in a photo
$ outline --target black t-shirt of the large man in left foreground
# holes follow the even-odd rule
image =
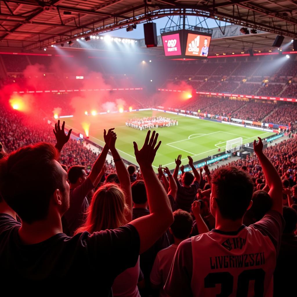
[[[21,242],[20,227],[9,215],[0,215],[3,284],[15,278],[18,286],[37,282],[50,286],[62,284],[70,291],[84,284],[85,293],[88,290],[94,293],[95,286],[99,296],[112,296],[111,286],[116,276],[138,261],[140,238],[135,227],[129,224],[73,237],[59,233],[30,245]]]

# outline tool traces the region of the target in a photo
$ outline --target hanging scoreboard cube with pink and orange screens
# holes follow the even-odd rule
[[[168,59],[207,59],[211,34],[178,30],[161,36]]]

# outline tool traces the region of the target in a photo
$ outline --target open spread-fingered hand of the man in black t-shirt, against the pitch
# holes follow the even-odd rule
[[[133,141],[136,161],[140,166],[151,166],[156,156],[157,150],[161,145],[161,141],[159,141],[157,144],[159,134],[156,133],[156,131],[153,131],[151,138],[150,134],[151,131],[149,130],[146,134],[143,147],[140,150],[138,150],[137,143]]]

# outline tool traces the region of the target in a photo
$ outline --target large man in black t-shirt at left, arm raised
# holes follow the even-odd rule
[[[107,151],[107,143],[116,139],[112,130],[104,133]],[[115,277],[134,267],[139,254],[173,222],[166,192],[152,168],[161,144],[157,138],[153,132],[150,139],[149,131],[142,149],[134,143],[147,186],[150,215],[114,230],[82,232],[73,237],[62,232],[61,217],[69,208],[69,184],[67,173],[57,162],[57,149],[38,143],[1,159],[1,198],[22,221],[20,224],[8,214],[0,215],[1,282],[15,280],[14,292],[21,290],[22,294],[27,290],[32,293],[42,284],[47,292],[59,288],[59,292],[83,289],[94,293],[95,288],[99,296],[111,296]]]

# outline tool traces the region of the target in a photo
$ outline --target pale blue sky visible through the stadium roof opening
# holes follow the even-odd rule
[[[206,22],[207,22],[208,28],[215,28],[218,26],[216,21],[211,18],[206,18],[206,22],[203,20],[203,18],[199,18],[198,20],[198,17],[194,17],[194,16],[188,16],[187,19],[188,21],[186,20],[186,24],[189,23],[189,25],[193,25],[193,26],[197,25],[198,27],[207,28]],[[203,21],[203,23],[199,24],[200,20]],[[173,18],[173,21],[175,23],[179,23],[178,17],[175,16]],[[159,19],[153,20],[153,22],[157,24],[157,35],[160,35],[160,29],[163,29],[165,27],[176,26],[176,24],[171,22],[171,20],[169,20],[168,17],[159,18]],[[221,26],[223,25],[225,25],[224,22],[221,23]],[[227,25],[230,25],[230,24],[227,23]],[[124,29],[114,30],[113,32],[108,32],[102,35],[107,35],[107,34],[110,36],[121,37],[121,38],[142,39],[144,38],[143,24],[137,24],[137,28],[134,29],[133,31],[127,32],[126,28],[124,28]]]

